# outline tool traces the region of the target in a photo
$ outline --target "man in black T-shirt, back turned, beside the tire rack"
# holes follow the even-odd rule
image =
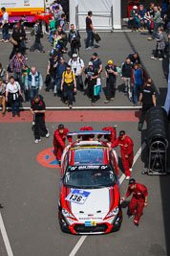
[[[156,106],[156,92],[152,87],[151,79],[147,80],[146,85],[140,92],[138,104],[141,105],[141,103],[142,109],[138,123],[138,130],[142,130],[142,126],[148,109],[152,106]]]

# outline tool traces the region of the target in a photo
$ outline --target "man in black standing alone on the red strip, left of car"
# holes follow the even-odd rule
[[[34,100],[32,101],[31,112],[33,115],[34,121],[34,143],[38,143],[41,141],[40,139],[40,129],[45,134],[46,138],[50,137],[49,131],[45,125],[45,112],[46,112],[46,105],[45,103],[40,100],[40,96],[35,96]]]

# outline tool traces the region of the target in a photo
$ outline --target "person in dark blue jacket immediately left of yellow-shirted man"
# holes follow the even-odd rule
[[[62,75],[63,75],[63,72],[66,71],[66,67],[67,67],[67,63],[65,62],[65,58],[61,57],[57,64],[53,96],[56,96],[56,95],[61,96]]]

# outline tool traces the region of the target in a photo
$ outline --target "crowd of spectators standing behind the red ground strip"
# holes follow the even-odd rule
[[[103,63],[98,54],[94,52],[92,58],[89,59],[89,63],[85,66],[84,60],[80,58],[79,49],[81,47],[81,37],[79,32],[74,28],[74,24],[70,25],[70,31],[66,33],[67,26],[67,1],[57,0],[49,7],[49,12],[52,13],[53,19],[49,21],[49,42],[52,44],[52,51],[49,56],[49,62],[47,66],[47,74],[45,79],[46,91],[53,90],[53,96],[59,97],[61,101],[68,105],[69,108],[73,107],[76,91],[84,91],[85,85],[87,85],[88,97],[92,101],[92,105],[96,104],[99,99],[101,91],[101,73],[104,70],[105,84],[106,84],[106,100],[104,104],[108,104],[115,100],[116,88],[117,88],[117,76],[120,75],[122,81],[125,84],[125,96],[133,105],[138,105],[143,102],[143,98],[139,100],[140,92],[148,81],[147,74],[141,64],[138,53],[132,53],[127,55],[125,61],[121,67],[117,67],[112,59],[109,59],[107,63]],[[65,3],[65,4],[64,4]],[[28,67],[26,50],[28,38],[26,36],[25,27],[25,15],[19,20],[17,24],[14,24],[11,36],[9,35],[9,14],[5,8],[1,9],[3,12],[2,18],[2,30],[3,38],[2,42],[11,41],[13,47],[10,55],[10,64],[8,70],[3,68],[0,63],[0,79],[1,79],[1,105],[3,106],[3,115],[5,115],[6,104],[11,104],[12,116],[18,114],[18,108],[21,101],[31,102],[34,100],[43,87],[43,77],[45,77],[37,70],[36,67]],[[163,12],[161,10],[161,12]],[[163,12],[163,17],[167,14]],[[86,43],[85,48],[87,51],[94,47],[94,37],[96,37],[96,30],[92,21],[93,12],[88,12],[85,19],[86,22]],[[150,19],[147,19],[147,17]],[[157,47],[155,55],[152,59],[162,60],[164,58],[165,39],[162,34],[162,27],[160,26],[160,7],[154,6],[151,3],[149,10],[145,10],[142,5],[131,10],[129,25],[135,28],[138,26],[138,30],[145,26],[150,28],[150,21],[154,21],[153,34],[151,38],[157,39]],[[166,21],[168,21],[168,14],[166,15]],[[168,23],[169,24],[169,23]],[[34,43],[30,48],[30,51],[38,50],[40,53],[45,53],[41,38],[43,37],[41,22],[36,20],[32,33],[34,36]],[[71,58],[68,63],[65,60],[66,51],[70,48]],[[160,54],[160,56],[159,56]],[[9,76],[12,72],[13,76]],[[83,74],[85,80],[83,81]],[[14,80],[14,81],[13,81]],[[152,80],[150,80],[152,81]],[[8,86],[6,86],[9,83]],[[152,87],[152,85],[151,85]],[[8,91],[9,90],[9,91]],[[11,94],[15,95],[11,97]],[[5,99],[5,100],[4,100]],[[138,103],[139,101],[139,103]],[[15,104],[13,104],[15,102]],[[142,122],[141,122],[142,123]],[[141,124],[140,123],[140,124]],[[141,127],[141,125],[140,125]]]

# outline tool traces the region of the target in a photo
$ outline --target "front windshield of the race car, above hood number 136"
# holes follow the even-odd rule
[[[73,188],[93,189],[116,184],[116,176],[111,170],[74,170],[66,173],[64,185]]]

